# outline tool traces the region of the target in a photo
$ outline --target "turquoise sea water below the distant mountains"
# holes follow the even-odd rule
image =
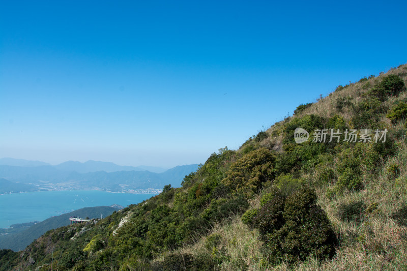
[[[155,194],[111,193],[97,190],[66,190],[0,195],[0,228],[12,224],[43,221],[83,207],[124,207],[137,204]]]

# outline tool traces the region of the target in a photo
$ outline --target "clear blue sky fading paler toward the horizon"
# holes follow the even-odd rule
[[[406,1],[2,1],[0,157],[203,163],[407,62]]]

